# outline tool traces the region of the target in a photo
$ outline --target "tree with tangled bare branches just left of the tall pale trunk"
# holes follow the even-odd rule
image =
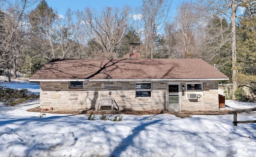
[[[230,31],[230,25],[222,16],[214,15],[208,18],[204,27],[203,41],[199,46],[200,58],[212,64],[218,62],[217,67],[223,67],[229,63],[231,60]]]

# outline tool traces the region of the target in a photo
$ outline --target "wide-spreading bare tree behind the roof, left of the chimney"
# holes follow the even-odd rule
[[[128,29],[130,7],[124,6],[121,10],[105,7],[100,12],[86,8],[78,15],[90,41],[98,45],[102,52],[114,52]]]

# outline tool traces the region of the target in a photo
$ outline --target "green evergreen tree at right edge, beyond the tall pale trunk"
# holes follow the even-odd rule
[[[245,10],[238,25],[238,80],[240,84],[252,85],[256,92],[256,2],[249,0],[242,6]]]

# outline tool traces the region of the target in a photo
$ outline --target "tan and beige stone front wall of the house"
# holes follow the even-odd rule
[[[40,82],[41,108],[58,110],[94,109],[96,99],[113,98],[119,110],[167,110],[168,82],[151,81],[152,97],[136,98],[135,81],[84,81],[83,88],[69,88],[69,82]],[[199,82],[199,81],[196,81]],[[201,81],[202,82],[202,81]],[[175,82],[172,82],[175,83]],[[182,91],[180,83],[180,91]],[[181,110],[218,110],[218,82],[205,81],[202,98],[191,102],[185,94],[181,98]]]

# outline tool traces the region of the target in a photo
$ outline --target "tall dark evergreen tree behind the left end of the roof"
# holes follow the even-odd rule
[[[53,58],[49,46],[49,37],[52,37],[52,35],[49,35],[49,32],[51,31],[51,24],[56,19],[56,14],[47,2],[42,0],[30,12],[28,18],[31,25],[30,47],[23,58],[27,62],[22,70],[30,76]]]

